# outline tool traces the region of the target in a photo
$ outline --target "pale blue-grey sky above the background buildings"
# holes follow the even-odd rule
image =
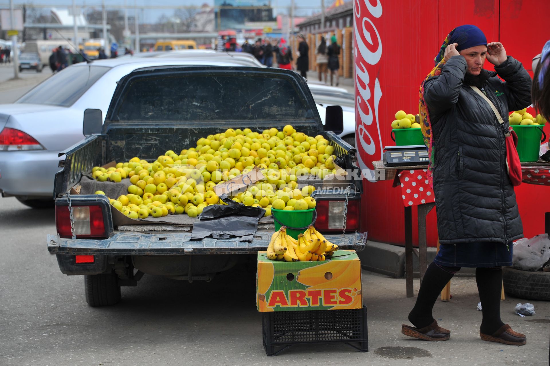
[[[128,6],[134,6],[134,1],[138,6],[154,6],[157,4],[162,4],[162,6],[185,6],[185,5],[196,5],[200,6],[204,3],[213,5],[214,0],[163,0],[162,2],[158,0],[127,0]],[[268,2],[269,0],[266,0]],[[274,8],[273,13],[276,15],[278,13],[287,13],[287,9],[290,7],[291,0],[271,0],[271,6]],[[0,3],[6,3],[7,0],[0,0]],[[63,5],[72,6],[72,0],[32,0],[32,1],[22,1],[14,0],[14,4],[40,4],[40,5],[56,5],[61,7]],[[105,1],[107,8],[109,4],[124,5],[124,0],[106,0]],[[331,6],[333,0],[325,0],[324,4],[326,7]],[[86,7],[101,7],[101,0],[76,0],[76,6],[86,6]],[[307,16],[312,13],[318,13],[321,9],[321,0],[295,0],[295,15],[296,16]],[[166,9],[151,9],[144,12],[145,22],[151,23],[156,21],[162,14],[168,16],[172,15],[172,10]],[[130,13],[131,15],[131,13]]]

